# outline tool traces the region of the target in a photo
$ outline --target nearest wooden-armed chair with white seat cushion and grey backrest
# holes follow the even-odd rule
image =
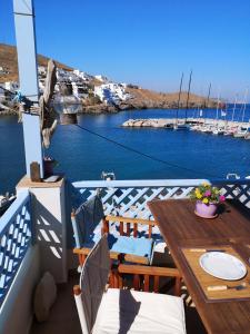
[[[109,269],[109,247],[107,235],[103,235],[86,259],[80,285],[73,288],[82,333],[186,334],[184,307],[180,297],[128,288],[107,289]],[[144,275],[146,291],[148,276],[154,276],[154,282],[166,275],[180,277],[177,269],[119,265],[118,285],[122,284],[123,274]],[[154,283],[154,291],[158,291],[158,283]]]

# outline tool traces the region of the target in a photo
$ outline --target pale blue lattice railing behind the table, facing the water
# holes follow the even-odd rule
[[[204,179],[170,180],[111,180],[76,181],[80,200],[87,200],[97,191],[101,195],[106,215],[114,214],[150,219],[147,203],[152,199],[188,198],[191,190]],[[227,198],[239,199],[250,207],[250,180],[213,180]],[[77,196],[74,196],[76,198]],[[80,203],[78,198],[78,204]]]

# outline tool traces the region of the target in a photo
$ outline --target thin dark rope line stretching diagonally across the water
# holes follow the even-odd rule
[[[84,127],[80,126],[80,125],[76,125],[76,126],[77,126],[78,128],[80,128],[80,129],[82,129],[82,130],[84,130],[84,131],[87,131],[87,132],[93,135],[93,136],[97,136],[97,137],[99,137],[99,138],[101,138],[101,139],[104,139],[106,141],[109,141],[109,143],[111,143],[111,144],[114,144],[114,145],[117,145],[117,146],[119,146],[119,147],[121,147],[121,148],[123,148],[123,149],[129,150],[129,151],[136,153],[136,154],[138,154],[138,155],[140,155],[140,156],[142,156],[142,157],[144,157],[144,158],[151,159],[151,160],[153,160],[153,161],[156,161],[156,163],[160,163],[160,164],[167,165],[167,166],[169,166],[169,167],[173,167],[173,168],[179,168],[179,169],[182,169],[182,170],[186,170],[186,171],[191,171],[192,174],[201,174],[201,171],[199,171],[199,170],[191,169],[191,168],[187,168],[187,167],[182,167],[182,166],[179,166],[179,165],[176,165],[176,164],[172,164],[172,163],[169,163],[169,161],[159,159],[159,158],[157,158],[157,157],[150,156],[150,155],[148,155],[148,154],[144,154],[144,153],[142,153],[142,151],[140,151],[140,150],[138,150],[138,149],[136,149],[136,148],[132,148],[132,147],[129,147],[129,146],[123,145],[123,144],[121,144],[121,143],[118,143],[118,141],[116,141],[116,140],[113,140],[113,139],[110,139],[110,138],[108,138],[108,137],[106,137],[106,136],[102,136],[102,135],[100,135],[100,134],[98,134],[98,132],[94,132],[94,131],[92,131],[92,130],[90,130],[90,129],[88,129],[88,128],[84,128]],[[212,175],[212,174],[207,173],[207,171],[206,171],[206,175],[208,175],[208,176],[210,176],[210,177],[214,177],[214,178],[222,178],[221,176],[218,177],[217,175]]]

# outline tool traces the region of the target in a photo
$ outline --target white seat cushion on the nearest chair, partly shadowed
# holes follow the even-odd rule
[[[103,294],[93,334],[184,334],[180,297],[110,288]]]

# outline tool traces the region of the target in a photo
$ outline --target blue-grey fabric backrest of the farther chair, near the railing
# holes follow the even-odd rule
[[[77,248],[83,247],[93,237],[93,230],[103,217],[103,205],[98,195],[79,206],[71,217]]]

